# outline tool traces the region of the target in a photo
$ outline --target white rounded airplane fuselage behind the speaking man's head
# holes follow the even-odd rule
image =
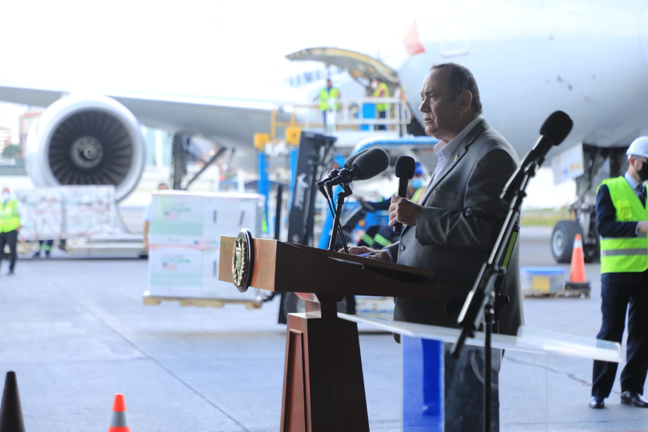
[[[419,121],[423,77],[432,64],[456,62],[472,71],[483,114],[521,157],[555,110],[574,123],[563,148],[627,146],[645,132],[645,1],[463,3],[432,4],[428,16],[417,16],[424,53],[410,55],[398,70]]]

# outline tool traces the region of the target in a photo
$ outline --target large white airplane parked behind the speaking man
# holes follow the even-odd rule
[[[383,52],[389,54],[382,59],[366,54],[364,60],[360,58],[358,54],[363,54],[362,50],[351,51],[356,42],[351,38],[345,55],[341,53],[345,50],[327,45],[327,32],[314,32],[319,38],[312,34],[308,38],[295,38],[297,41],[293,40],[292,45],[307,41],[321,43],[311,45],[315,48],[296,50],[289,58],[338,66],[359,82],[377,76],[386,80],[392,89],[400,86],[413,113],[410,131],[414,134],[421,134],[422,130],[422,117],[417,109],[419,91],[430,66],[446,61],[463,64],[476,77],[484,116],[513,144],[520,158],[535,143],[544,119],[555,110],[566,112],[573,119],[572,132],[561,147],[551,150],[548,158],[564,155],[573,147],[582,149],[577,161],[572,163],[576,169],[570,167],[566,172],[577,183],[578,198],[573,206],[576,220],[561,221],[555,226],[551,249],[557,261],[568,262],[573,238],[581,233],[586,260],[596,258],[596,178],[606,160],[609,160],[610,176],[623,173],[627,163],[625,148],[632,139],[647,132],[646,2],[546,0],[529,4],[506,0],[443,0],[414,3],[406,11],[395,11],[399,22],[402,16],[410,16],[404,38],[397,25],[371,18],[365,23],[365,29],[373,28],[375,32],[380,29],[377,33],[381,40],[386,40],[385,34],[391,35],[390,45],[383,47]],[[277,102],[119,91],[96,96],[67,95],[70,91],[0,82],[1,101],[49,106],[38,126],[40,139],[32,139],[33,144],[29,146],[30,175],[37,185],[45,186],[60,182],[60,177],[56,177],[59,172],[71,169],[75,163],[97,163],[93,158],[102,153],[97,140],[108,137],[84,139],[85,132],[75,139],[59,137],[63,136],[62,126],[73,117],[84,121],[85,128],[97,127],[98,119],[102,118],[121,130],[115,147],[119,151],[102,153],[103,158],[114,156],[114,168],[104,176],[113,179],[121,196],[128,195],[141,175],[142,144],[135,134],[139,123],[202,134],[235,147],[249,147],[250,130],[263,131],[271,105]],[[61,98],[62,94],[67,96]],[[57,154],[67,154],[70,149],[83,157],[73,156],[58,165],[53,162]],[[558,171],[564,174],[565,170]]]

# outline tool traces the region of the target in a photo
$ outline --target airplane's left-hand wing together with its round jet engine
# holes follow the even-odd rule
[[[146,125],[253,149],[257,132],[290,114],[277,101],[107,91],[71,92],[0,83],[0,101],[46,107],[27,138],[36,186],[112,184],[118,200],[137,185],[145,162]],[[272,136],[272,134],[271,134]]]

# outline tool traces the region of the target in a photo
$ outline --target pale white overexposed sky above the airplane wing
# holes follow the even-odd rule
[[[453,9],[465,3],[430,1]],[[344,47],[397,62],[405,55],[404,29],[427,8],[426,1],[397,8],[348,0],[5,0],[0,82],[270,99],[281,78],[314,67],[285,60],[299,49]],[[426,31],[442,31],[444,23]],[[0,102],[0,126],[16,139],[23,112]],[[529,185],[544,192],[530,193],[526,203],[538,195],[548,205],[572,200],[569,187],[547,193],[553,185],[546,173]]]

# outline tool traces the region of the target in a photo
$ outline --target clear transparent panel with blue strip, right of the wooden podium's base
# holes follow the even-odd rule
[[[480,346],[483,346],[483,334],[468,339],[462,359],[452,363],[452,372],[445,373],[450,364],[449,351],[459,330],[340,316],[365,327],[402,335],[400,430],[482,430],[484,361]],[[592,359],[623,361],[619,344],[525,327],[518,337],[493,335],[492,345],[498,349],[493,350],[491,374],[497,390],[491,392],[491,397],[499,402],[499,409],[492,411],[492,418],[499,424],[493,431],[623,431],[642,426],[644,410],[632,411],[630,414],[636,415],[628,416],[625,407],[619,409],[617,389],[607,400],[612,405],[609,409],[588,407]],[[502,349],[503,357],[500,357]],[[371,353],[364,349],[363,363],[365,368],[377,367]],[[390,368],[386,368],[386,374],[389,373]],[[376,387],[376,383],[365,382],[372,427],[386,426],[381,422],[386,416],[384,399],[389,397],[395,403],[399,381],[391,381],[392,390],[388,393]],[[382,392],[382,403],[373,401],[374,391]],[[381,409],[374,409],[374,405]]]

